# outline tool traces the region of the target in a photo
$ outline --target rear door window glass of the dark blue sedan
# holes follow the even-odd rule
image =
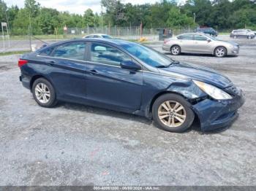
[[[84,55],[86,51],[86,43],[85,42],[70,42],[66,44],[62,44],[51,54],[53,57],[58,58],[69,58],[74,60],[84,60]]]

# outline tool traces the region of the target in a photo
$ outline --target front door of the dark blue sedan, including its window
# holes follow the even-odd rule
[[[110,109],[140,109],[143,72],[120,67],[121,61],[132,61],[132,58],[116,47],[96,42],[91,42],[89,55],[86,74],[88,100]]]

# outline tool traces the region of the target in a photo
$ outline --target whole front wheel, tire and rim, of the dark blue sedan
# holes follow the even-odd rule
[[[167,103],[169,103],[169,106]],[[163,106],[163,104],[165,106]],[[167,109],[169,109],[169,111],[167,111]],[[175,109],[178,109],[178,111],[176,112]],[[195,118],[191,104],[181,95],[174,93],[159,96],[152,106],[152,115],[154,122],[159,128],[176,133],[187,130],[192,125]]]

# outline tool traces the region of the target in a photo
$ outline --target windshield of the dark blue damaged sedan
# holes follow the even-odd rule
[[[121,47],[123,47],[124,50],[127,50],[131,55],[139,58],[140,61],[143,61],[149,66],[170,66],[170,64],[173,63],[173,59],[141,44],[122,44]]]

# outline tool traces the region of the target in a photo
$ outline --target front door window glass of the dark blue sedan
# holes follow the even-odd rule
[[[132,61],[128,55],[115,47],[105,44],[91,44],[91,61],[95,63],[105,63],[111,66],[120,66],[122,61]]]

